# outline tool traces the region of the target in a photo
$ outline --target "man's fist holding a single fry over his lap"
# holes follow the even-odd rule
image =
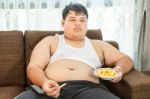
[[[48,96],[56,98],[60,95],[60,86],[53,80],[45,80],[42,89]]]

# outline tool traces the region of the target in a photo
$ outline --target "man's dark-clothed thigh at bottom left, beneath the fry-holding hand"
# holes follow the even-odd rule
[[[23,93],[18,95],[15,99],[54,99],[54,98],[46,95],[37,94],[32,89],[28,89],[27,91],[24,91]]]

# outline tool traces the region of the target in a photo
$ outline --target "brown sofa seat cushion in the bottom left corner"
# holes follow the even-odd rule
[[[0,87],[0,99],[14,99],[15,96],[24,91],[23,86]]]

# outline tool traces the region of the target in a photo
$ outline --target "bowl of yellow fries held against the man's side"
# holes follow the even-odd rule
[[[94,70],[94,75],[104,80],[112,80],[117,72],[112,68],[98,68]]]

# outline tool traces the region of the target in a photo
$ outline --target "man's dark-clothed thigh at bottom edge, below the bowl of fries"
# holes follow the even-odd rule
[[[120,99],[120,98],[105,89],[93,88],[78,94],[74,99]]]

